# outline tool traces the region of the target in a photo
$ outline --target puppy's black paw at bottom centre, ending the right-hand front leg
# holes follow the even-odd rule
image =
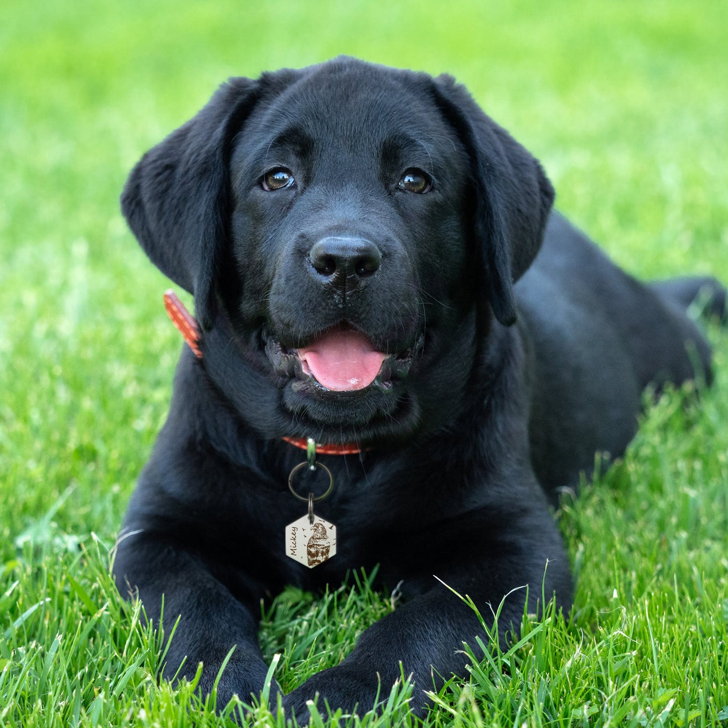
[[[373,679],[367,679],[348,665],[338,665],[322,670],[288,693],[283,698],[283,708],[286,716],[294,713],[299,722],[309,716],[306,706],[309,700],[317,702],[322,712],[325,711],[325,703],[328,703],[332,711],[342,708],[346,713],[356,712],[363,716],[382,700],[387,700],[391,687],[383,686],[380,690],[376,674]]]

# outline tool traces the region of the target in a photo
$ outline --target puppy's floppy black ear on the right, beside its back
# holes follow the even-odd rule
[[[451,76],[432,82],[435,103],[464,143],[475,187],[473,227],[486,272],[488,302],[504,325],[515,322],[513,284],[543,240],[554,190],[541,165]]]

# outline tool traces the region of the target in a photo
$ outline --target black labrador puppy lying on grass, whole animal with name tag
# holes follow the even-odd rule
[[[285,696],[299,716],[372,708],[400,662],[416,707],[463,675],[481,628],[442,582],[486,617],[510,594],[503,637],[542,587],[569,609],[549,502],[622,454],[648,384],[710,378],[685,309],[725,294],[636,281],[553,197],[451,77],[350,58],[231,79],[132,170],[124,215],[200,325],[115,562],[167,633],[181,615],[167,674],[202,661],[207,692],[235,646],[218,695],[258,695],[261,598],[376,564],[403,606]],[[310,521],[292,491],[323,495],[320,466]]]

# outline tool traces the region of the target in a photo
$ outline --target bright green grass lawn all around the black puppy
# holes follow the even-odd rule
[[[5,0],[0,725],[225,724],[191,686],[157,684],[166,637],[108,577],[181,347],[118,210],[143,151],[231,74],[341,52],[448,71],[622,266],[728,281],[723,16],[711,0]],[[728,726],[728,336],[711,338],[716,386],[665,393],[624,461],[563,503],[569,624],[526,617],[523,644],[448,684],[430,725]],[[363,577],[284,593],[262,614],[276,678],[336,664],[389,609]],[[406,693],[362,724],[406,723]]]

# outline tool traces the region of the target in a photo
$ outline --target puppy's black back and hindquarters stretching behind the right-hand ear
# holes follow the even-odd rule
[[[697,277],[644,285],[557,213],[515,288],[533,349],[531,459],[555,502],[595,453],[605,464],[625,451],[645,387],[696,372],[710,381],[710,349],[686,309],[704,290],[719,312],[721,288]]]

